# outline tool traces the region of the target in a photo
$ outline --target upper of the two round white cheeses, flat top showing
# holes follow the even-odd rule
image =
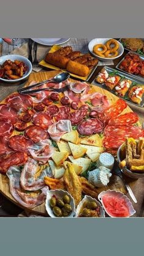
[[[101,153],[101,155],[99,156],[98,162],[97,162],[97,167],[104,166],[104,167],[112,170],[114,161],[115,161],[115,159],[109,153]]]

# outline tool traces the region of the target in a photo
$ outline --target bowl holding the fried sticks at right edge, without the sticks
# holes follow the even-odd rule
[[[118,152],[117,152],[117,158],[118,158],[118,162],[120,163],[121,161],[123,161],[123,159],[121,158],[121,147],[123,147],[123,144],[118,148]],[[144,172],[138,173],[138,172],[131,172],[131,170],[129,170],[126,167],[123,167],[123,169],[121,169],[121,171],[123,172],[123,174],[125,174],[126,176],[130,177],[130,178],[143,178],[144,177]]]

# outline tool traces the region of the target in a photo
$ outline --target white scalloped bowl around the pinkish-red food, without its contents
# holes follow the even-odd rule
[[[120,191],[115,191],[115,190],[110,190],[108,189],[107,191],[102,191],[99,195],[98,195],[98,200],[102,203],[103,207],[104,207],[104,203],[103,203],[103,196],[108,194],[109,196],[117,196],[117,198],[123,198],[126,202],[126,204],[128,205],[129,208],[129,216],[127,217],[119,217],[119,218],[129,218],[130,216],[132,216],[133,214],[136,213],[136,211],[134,210],[134,207],[132,206],[131,201],[129,200],[129,198],[127,196],[125,196],[122,192]],[[118,218],[118,217],[114,217],[112,215],[110,215],[110,213],[107,212],[106,208],[104,207],[104,210],[106,211],[106,213],[111,217],[111,218]]]

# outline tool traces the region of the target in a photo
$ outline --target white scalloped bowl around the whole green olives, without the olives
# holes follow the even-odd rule
[[[47,191],[45,207],[46,207],[46,211],[47,211],[47,213],[49,214],[50,217],[57,218],[57,216],[55,216],[54,213],[52,212],[52,209],[49,205],[49,201],[51,200],[51,197],[56,196],[56,197],[59,197],[59,199],[62,199],[62,197],[65,196],[65,195],[68,195],[71,199],[70,200],[70,205],[72,207],[72,211],[67,217],[60,217],[60,218],[74,218],[74,217],[76,217],[76,207],[75,207],[74,199],[71,196],[71,194],[69,194],[67,191],[64,191],[62,189],[56,189],[56,190],[51,189],[51,190]]]

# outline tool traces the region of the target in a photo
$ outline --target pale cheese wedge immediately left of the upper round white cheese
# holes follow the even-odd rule
[[[87,156],[92,160],[92,162],[95,162],[98,160],[100,153],[103,152],[103,147],[95,147],[90,145],[84,145],[84,148],[87,148]]]

